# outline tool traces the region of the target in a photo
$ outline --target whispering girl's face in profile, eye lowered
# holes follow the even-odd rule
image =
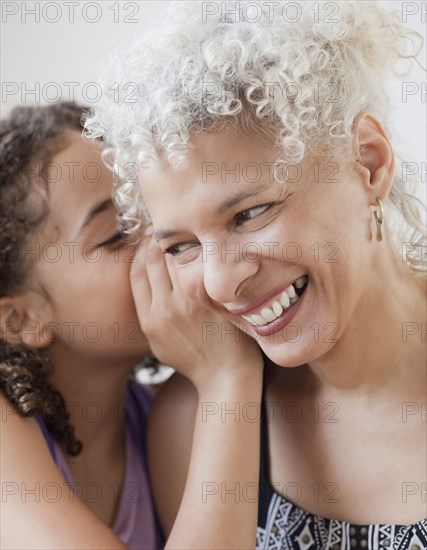
[[[135,251],[117,229],[112,174],[101,146],[70,131],[50,161],[47,221],[26,245],[34,265],[28,284],[45,297],[51,348],[108,362],[149,353],[129,283]],[[46,322],[47,321],[47,322]]]

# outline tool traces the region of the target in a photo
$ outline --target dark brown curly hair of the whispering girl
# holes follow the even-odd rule
[[[40,229],[49,209],[43,177],[52,157],[67,145],[69,130],[82,130],[84,108],[74,102],[16,107],[0,121],[0,297],[20,292],[31,263],[22,261],[27,239]],[[137,365],[157,370],[146,357]],[[0,336],[0,389],[22,416],[41,416],[67,453],[82,450],[70,422],[64,398],[52,384],[53,365],[46,353]]]

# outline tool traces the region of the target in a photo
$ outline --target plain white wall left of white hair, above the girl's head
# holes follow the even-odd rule
[[[1,4],[1,108],[5,116],[21,102],[54,101],[57,91],[62,92],[63,99],[71,94],[71,99],[90,104],[97,92],[90,83],[96,82],[103,61],[120,44],[149,28],[169,2],[46,0]],[[36,11],[39,21],[31,10]],[[71,82],[75,87],[67,84]],[[31,94],[34,89],[37,93]]]

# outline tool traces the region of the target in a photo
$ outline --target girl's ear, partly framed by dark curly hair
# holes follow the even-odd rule
[[[24,296],[0,298],[0,334],[10,344],[25,344],[34,349],[49,346],[54,340],[51,323],[46,323],[37,310],[28,307]]]

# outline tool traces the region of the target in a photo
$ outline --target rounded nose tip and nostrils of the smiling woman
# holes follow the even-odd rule
[[[203,277],[208,296],[220,304],[236,301],[242,284],[259,268],[260,258],[241,243],[208,243],[203,250]]]

